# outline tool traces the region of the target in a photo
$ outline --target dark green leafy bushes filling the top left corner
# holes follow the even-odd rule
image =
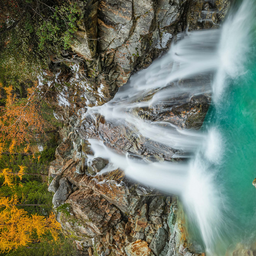
[[[0,82],[18,87],[33,81],[50,58],[69,49],[83,6],[75,0],[0,0]]]

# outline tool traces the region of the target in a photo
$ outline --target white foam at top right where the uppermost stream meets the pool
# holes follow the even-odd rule
[[[222,26],[218,47],[219,65],[213,83],[214,101],[221,98],[228,78],[234,79],[246,72],[244,64],[252,42],[254,11],[253,1],[244,0],[238,11],[231,13]]]

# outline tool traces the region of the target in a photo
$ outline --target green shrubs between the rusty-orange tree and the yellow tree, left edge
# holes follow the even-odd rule
[[[23,156],[2,155],[0,170],[10,169],[19,172],[19,166],[26,166],[22,180],[18,175],[13,176],[13,186],[3,186],[4,177],[0,176],[0,193],[6,197],[18,197],[20,208],[31,214],[49,215],[52,211],[52,193],[48,188],[48,169],[54,159],[55,147],[46,148],[41,153]],[[30,206],[29,204],[33,204]]]

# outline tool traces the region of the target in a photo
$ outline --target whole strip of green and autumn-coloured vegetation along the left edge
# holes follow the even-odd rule
[[[59,234],[58,228],[54,235],[48,232],[49,237],[40,228],[35,236],[32,229],[25,231],[30,237],[18,237],[18,233],[24,230],[20,220],[37,219],[35,228],[53,218],[48,171],[62,124],[54,118],[51,103],[44,100],[53,89],[43,91],[38,75],[54,74],[54,60],[69,53],[83,26],[86,2],[0,0],[0,214],[5,217],[0,221],[1,255],[78,255],[75,244]],[[11,223],[14,210],[17,219]],[[70,215],[67,204],[58,211]],[[16,231],[8,235],[10,223]]]

